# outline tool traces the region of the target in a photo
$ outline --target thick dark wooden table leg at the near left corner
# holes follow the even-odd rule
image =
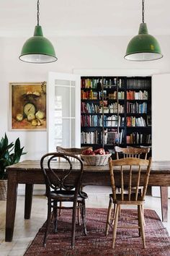
[[[11,242],[14,232],[14,218],[17,204],[17,187],[18,184],[14,179],[8,176],[7,198],[6,198],[6,228],[5,241]]]

